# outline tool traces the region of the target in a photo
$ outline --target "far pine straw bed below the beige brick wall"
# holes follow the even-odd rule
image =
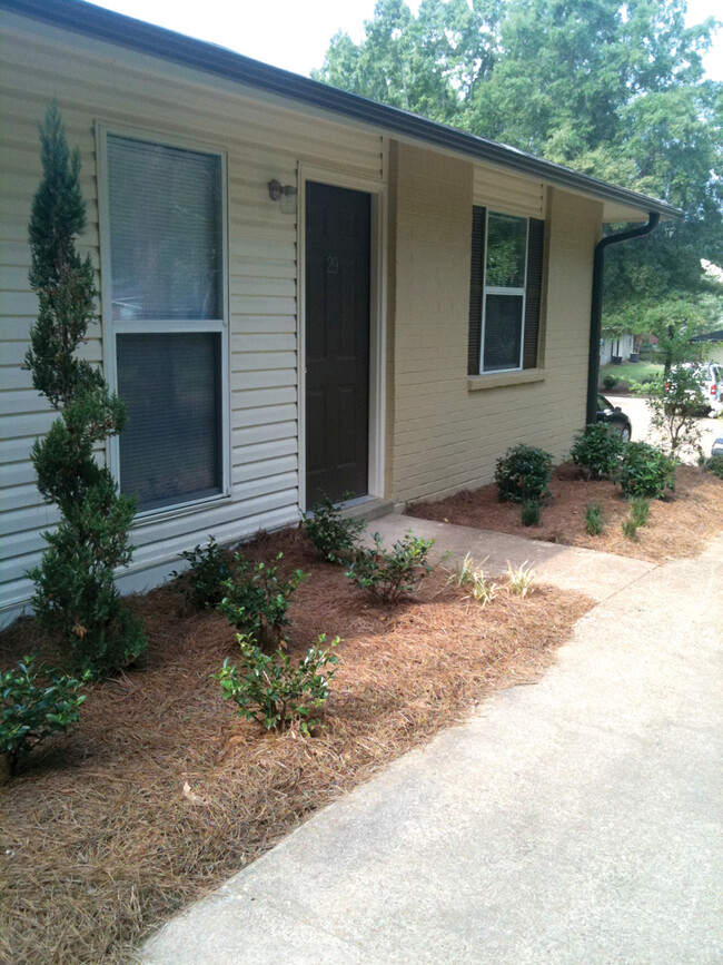
[[[554,470],[549,490],[552,499],[543,505],[535,526],[523,526],[518,504],[499,502],[496,485],[465,490],[438,502],[414,503],[405,512],[418,519],[586,546],[653,563],[694,555],[723,531],[723,480],[696,466],[679,466],[675,492],[652,501],[650,520],[638,529],[637,541],[623,535],[621,524],[630,516],[630,505],[614,483],[587,481],[581,469],[566,463]],[[585,506],[593,502],[600,503],[605,514],[600,536],[585,532]]]

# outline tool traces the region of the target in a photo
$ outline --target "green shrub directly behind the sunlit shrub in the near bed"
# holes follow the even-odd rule
[[[277,564],[283,555],[276,558]],[[234,554],[234,575],[224,581],[225,597],[216,609],[259,647],[274,647],[281,641],[289,622],[286,611],[291,594],[307,574],[295,570],[290,580],[281,581],[278,565],[252,565],[239,553]]]

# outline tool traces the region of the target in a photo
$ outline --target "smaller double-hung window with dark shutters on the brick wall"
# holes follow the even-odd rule
[[[544,221],[473,209],[471,375],[537,365]]]

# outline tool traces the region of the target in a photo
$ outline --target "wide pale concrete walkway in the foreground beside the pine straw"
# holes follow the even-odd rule
[[[529,548],[508,539],[503,569]],[[553,550],[526,558],[547,577]],[[537,686],[317,814],[143,962],[720,963],[723,540],[613,590],[621,567]]]

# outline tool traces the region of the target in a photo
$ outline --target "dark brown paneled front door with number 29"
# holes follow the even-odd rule
[[[306,505],[366,495],[372,199],[306,185]]]

